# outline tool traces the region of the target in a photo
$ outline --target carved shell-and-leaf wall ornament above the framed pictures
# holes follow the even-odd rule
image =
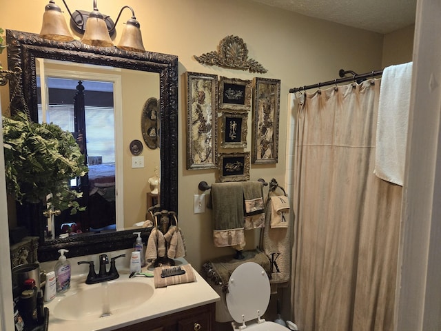
[[[201,54],[194,59],[208,66],[220,66],[225,68],[248,70],[265,74],[268,70],[254,59],[248,59],[247,44],[243,39],[237,36],[227,36],[222,39],[218,46],[218,51]]]

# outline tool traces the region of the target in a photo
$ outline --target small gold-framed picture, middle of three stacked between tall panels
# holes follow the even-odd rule
[[[247,147],[247,112],[222,112],[220,132],[223,148],[246,148]]]

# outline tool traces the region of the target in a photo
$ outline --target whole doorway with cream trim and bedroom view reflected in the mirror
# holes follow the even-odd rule
[[[52,215],[47,219],[45,239],[124,228],[123,162],[116,166],[116,160],[123,159],[121,134],[116,137],[116,132],[123,132],[122,70],[48,59],[37,59],[37,63],[38,121],[72,132],[89,170],[70,183],[83,193],[78,202],[85,210]]]

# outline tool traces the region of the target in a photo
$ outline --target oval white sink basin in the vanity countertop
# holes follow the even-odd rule
[[[148,283],[120,280],[85,285],[75,292],[66,292],[50,314],[70,321],[100,319],[130,312],[153,294],[154,288]]]

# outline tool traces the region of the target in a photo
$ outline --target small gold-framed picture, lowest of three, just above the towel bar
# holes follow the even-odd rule
[[[218,181],[249,181],[249,152],[220,153]]]

